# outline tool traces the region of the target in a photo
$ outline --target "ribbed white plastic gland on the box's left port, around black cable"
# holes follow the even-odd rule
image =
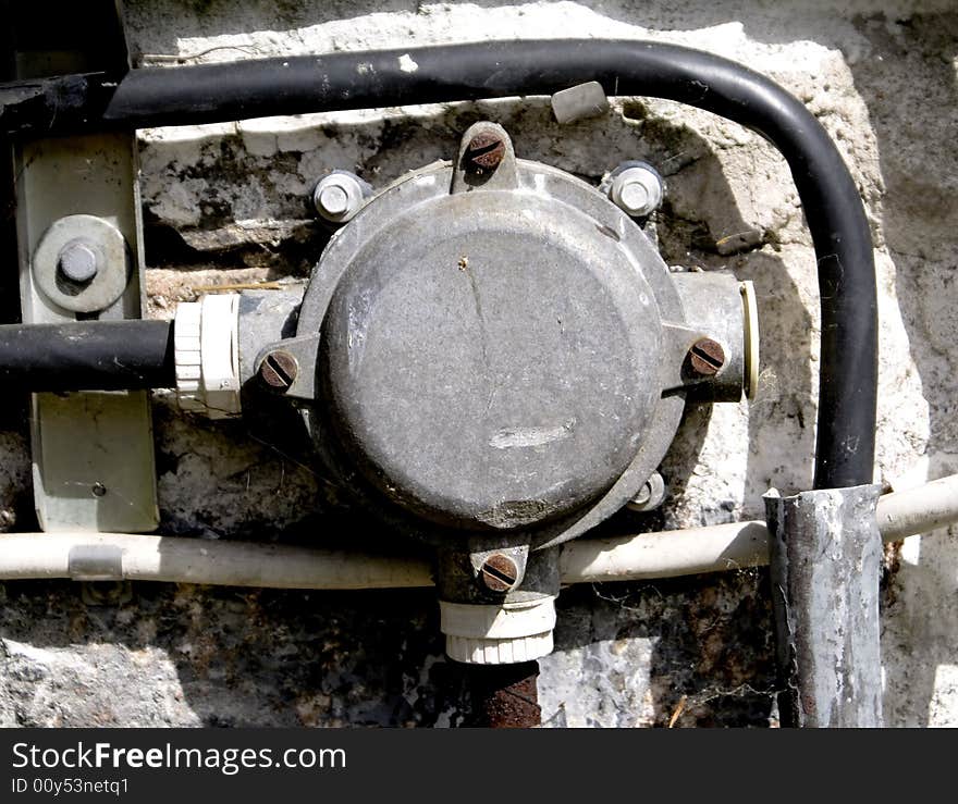
[[[238,416],[240,295],[182,301],[173,324],[180,408],[210,419]]]

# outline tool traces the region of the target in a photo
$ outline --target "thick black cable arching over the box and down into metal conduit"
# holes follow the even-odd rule
[[[105,120],[179,125],[274,114],[550,95],[598,81],[670,98],[771,140],[805,208],[822,306],[816,488],[872,482],[877,304],[861,198],[824,128],[769,78],[710,53],[641,41],[552,40],[334,53],[132,71]]]

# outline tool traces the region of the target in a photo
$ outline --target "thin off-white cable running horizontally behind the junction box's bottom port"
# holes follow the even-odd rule
[[[958,475],[879,500],[886,542],[958,522]],[[577,540],[562,547],[562,582],[672,578],[769,562],[762,521],[736,522],[618,539]],[[0,580],[168,581],[275,589],[408,589],[433,585],[422,558],[212,542],[124,533],[0,535]]]

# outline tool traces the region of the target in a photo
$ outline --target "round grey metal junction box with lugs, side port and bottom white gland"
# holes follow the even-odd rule
[[[299,406],[326,472],[438,548],[457,661],[549,653],[551,548],[661,504],[687,397],[754,387],[748,283],[670,271],[614,195],[477,123],[455,161],[351,210],[295,336],[285,316],[247,317],[273,333],[248,374]]]

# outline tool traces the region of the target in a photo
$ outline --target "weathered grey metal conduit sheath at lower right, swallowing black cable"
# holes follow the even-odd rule
[[[783,722],[882,726],[881,486],[766,495]]]

